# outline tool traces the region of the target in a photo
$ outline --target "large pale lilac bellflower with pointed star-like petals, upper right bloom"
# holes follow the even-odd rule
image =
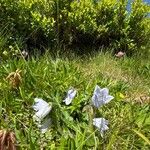
[[[99,108],[110,102],[113,98],[113,96],[109,95],[109,90],[107,88],[101,89],[98,85],[96,85],[92,96],[92,103],[96,108]]]

